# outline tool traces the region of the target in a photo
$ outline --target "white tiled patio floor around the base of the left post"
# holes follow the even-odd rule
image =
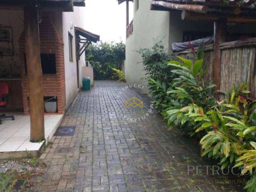
[[[8,113],[6,113],[8,115]],[[34,151],[39,150],[41,143],[32,143],[30,136],[30,116],[22,113],[14,113],[15,120],[4,119],[0,125],[0,152],[13,151]],[[59,126],[63,115],[45,115],[44,132],[46,142],[48,142],[57,127]]]

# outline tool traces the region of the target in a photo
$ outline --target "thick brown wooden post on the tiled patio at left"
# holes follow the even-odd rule
[[[38,11],[35,4],[24,8],[24,24],[30,106],[30,141],[38,142],[44,140],[44,94]]]

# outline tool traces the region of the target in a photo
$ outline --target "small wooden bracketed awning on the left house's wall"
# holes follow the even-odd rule
[[[98,42],[100,40],[100,36],[93,34],[81,27],[75,26],[75,34],[76,34],[76,58],[79,60],[80,56],[86,50],[86,48],[90,45],[91,42]],[[84,37],[81,38],[80,36]],[[82,46],[80,46],[82,44]]]

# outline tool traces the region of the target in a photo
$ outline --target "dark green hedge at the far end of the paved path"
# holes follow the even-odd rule
[[[94,79],[106,80],[113,76],[112,68],[121,69],[125,59],[125,44],[100,42],[86,49],[86,60],[94,67]]]

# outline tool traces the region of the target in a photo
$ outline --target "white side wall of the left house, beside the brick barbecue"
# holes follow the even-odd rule
[[[70,29],[70,22],[74,25],[84,28],[84,7],[74,6],[74,12],[62,13],[62,31],[64,41],[64,63],[65,63],[65,81],[66,81],[66,107],[68,108],[78,93],[77,87],[77,67],[76,67],[76,44],[74,28]],[[73,36],[73,62],[69,60],[68,32]],[[79,87],[82,85],[82,64],[85,61],[84,53],[79,60]]]

